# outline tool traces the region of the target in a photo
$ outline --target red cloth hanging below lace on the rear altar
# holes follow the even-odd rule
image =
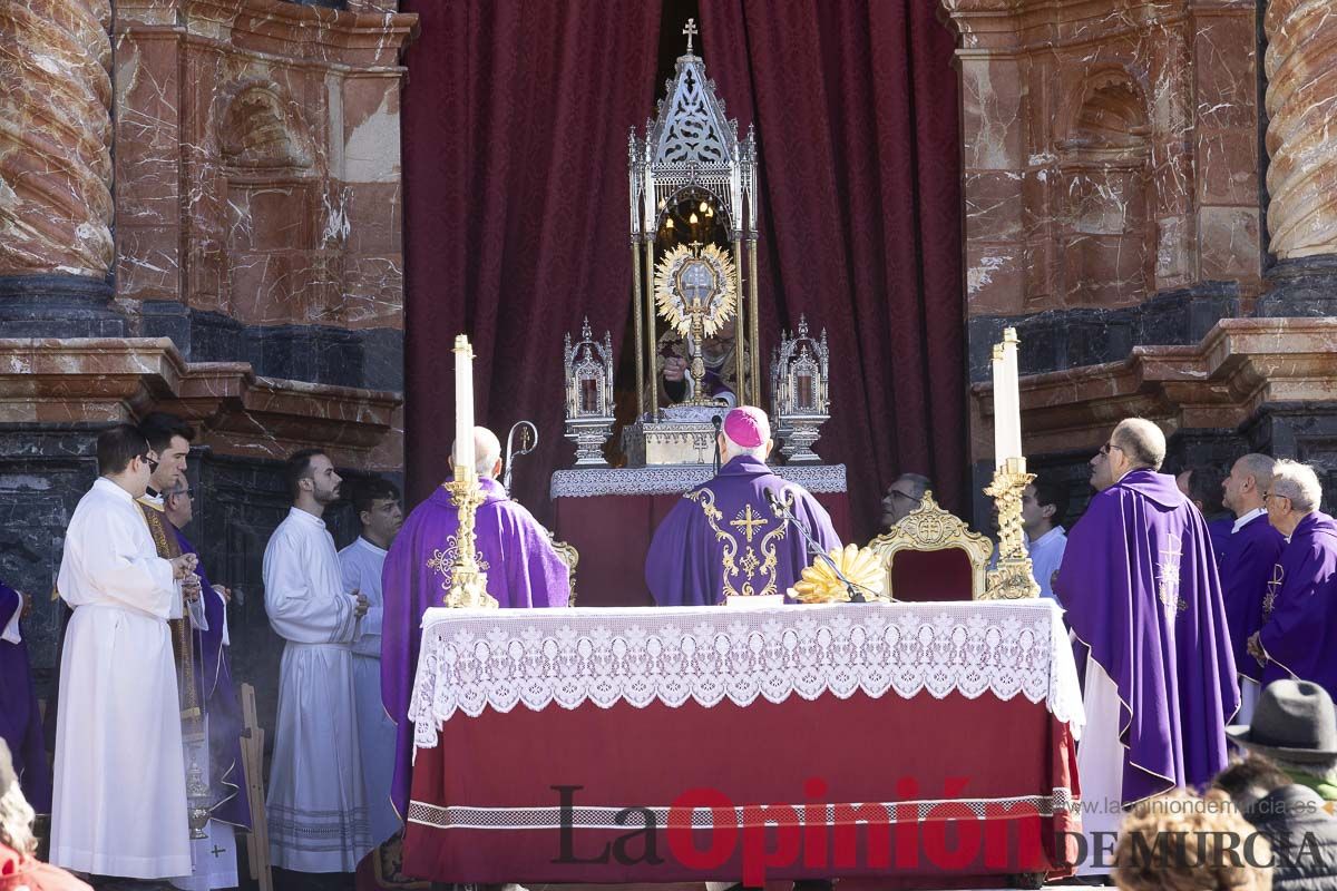
[[[707,469],[709,470],[709,469]],[[787,468],[785,469],[787,470]],[[582,473],[616,474],[626,470],[559,472],[566,477]],[[558,474],[555,474],[555,478]],[[844,478],[844,468],[840,468]],[[651,606],[654,598],[646,588],[646,553],[659,522],[673,509],[690,485],[678,492],[639,494],[562,494],[554,485],[552,506],[556,514],[554,534],[574,545],[580,553],[576,569],[576,602],[582,606]],[[844,485],[841,485],[844,489]],[[566,489],[570,492],[570,489]],[[849,494],[812,490],[832,516],[832,525],[842,542],[852,541]]]

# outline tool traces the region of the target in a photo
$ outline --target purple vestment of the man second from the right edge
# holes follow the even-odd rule
[[[1245,677],[1258,680],[1262,668],[1249,655],[1249,637],[1262,628],[1262,604],[1281,560],[1286,540],[1277,532],[1267,514],[1250,520],[1226,540],[1217,554],[1221,565],[1221,589],[1226,598],[1226,628],[1235,655],[1235,668]]]

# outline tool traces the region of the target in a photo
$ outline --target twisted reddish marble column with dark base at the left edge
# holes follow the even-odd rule
[[[0,323],[124,333],[110,309],[111,0],[0,4]]]

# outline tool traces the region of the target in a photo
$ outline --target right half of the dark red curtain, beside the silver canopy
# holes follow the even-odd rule
[[[826,327],[833,417],[817,450],[849,466],[866,534],[904,472],[964,508],[957,75],[936,8],[701,3],[706,71],[757,127],[762,355],[800,313]]]

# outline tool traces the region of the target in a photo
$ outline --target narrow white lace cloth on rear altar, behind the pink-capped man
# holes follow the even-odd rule
[[[813,493],[845,492],[842,464],[781,465],[771,470]],[[710,465],[555,470],[548,492],[554,498],[675,496],[710,481],[714,476],[715,470]]]

